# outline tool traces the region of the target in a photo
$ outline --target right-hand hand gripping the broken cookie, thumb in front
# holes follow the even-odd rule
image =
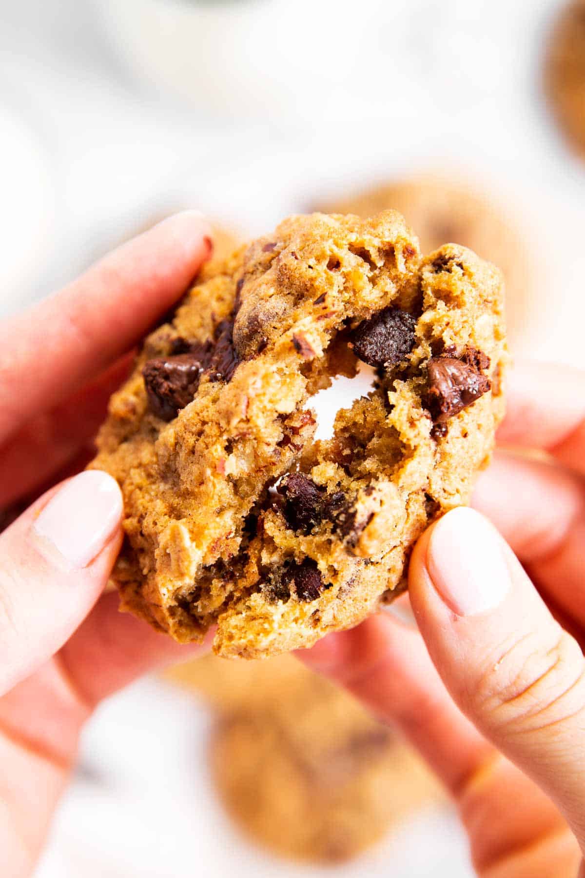
[[[534,363],[510,384],[499,439],[550,457],[500,450],[482,474],[474,506],[502,536],[453,510],[410,562],[422,637],[378,615],[300,655],[422,752],[478,874],[566,878],[581,864],[582,878],[585,376]]]

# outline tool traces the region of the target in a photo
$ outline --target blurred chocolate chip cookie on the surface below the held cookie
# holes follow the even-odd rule
[[[321,695],[297,704],[294,721],[250,710],[220,720],[211,745],[216,788],[257,842],[297,860],[351,860],[437,795],[396,734],[351,708]]]

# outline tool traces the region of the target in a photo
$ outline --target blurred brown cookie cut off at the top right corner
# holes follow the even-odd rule
[[[567,140],[585,157],[585,0],[560,12],[546,54],[545,89]]]

